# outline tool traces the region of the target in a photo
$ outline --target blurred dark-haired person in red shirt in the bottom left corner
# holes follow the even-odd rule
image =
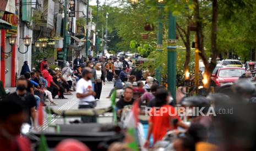
[[[30,151],[30,142],[20,136],[21,125],[27,114],[19,101],[0,101],[0,150],[1,151]]]

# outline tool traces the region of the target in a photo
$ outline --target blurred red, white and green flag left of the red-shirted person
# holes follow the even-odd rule
[[[127,136],[129,137],[129,141],[127,142],[127,147],[129,147],[130,149],[132,149],[133,151],[137,151],[139,150],[138,147],[138,135],[137,135],[137,126],[139,123],[139,112],[138,112],[138,108],[139,108],[139,100],[136,100],[133,103],[133,108],[132,111],[129,113],[128,117],[126,118],[126,120],[124,121],[124,123],[126,123],[126,127],[127,127]],[[141,146],[143,146],[144,144],[141,144]]]

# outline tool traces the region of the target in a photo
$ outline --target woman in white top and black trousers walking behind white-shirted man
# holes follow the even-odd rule
[[[95,100],[99,101],[100,100],[100,95],[101,95],[101,90],[102,90],[102,83],[105,85],[105,76],[104,76],[104,71],[102,70],[101,63],[97,63],[95,65],[95,70],[96,70],[96,84],[95,84]]]

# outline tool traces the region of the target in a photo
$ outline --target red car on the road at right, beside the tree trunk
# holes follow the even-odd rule
[[[226,67],[217,69],[216,73],[211,74],[211,79],[216,83],[217,86],[224,84],[232,84],[241,77],[242,74],[246,73],[244,68],[239,67]]]

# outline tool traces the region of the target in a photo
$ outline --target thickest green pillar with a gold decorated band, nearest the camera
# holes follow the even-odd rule
[[[176,103],[176,17],[169,13],[168,31],[168,59],[167,59],[167,83],[168,90],[171,91],[173,100]]]

